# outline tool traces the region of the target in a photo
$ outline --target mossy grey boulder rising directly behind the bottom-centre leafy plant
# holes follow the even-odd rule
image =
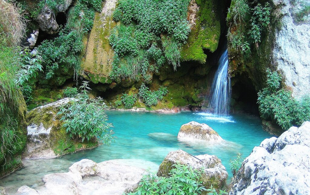
[[[208,154],[193,156],[183,150],[170,152],[162,164],[160,164],[157,175],[164,177],[170,176],[169,171],[173,169],[173,165],[178,163],[191,166],[194,169],[203,168],[205,172],[201,177],[201,181],[206,189],[210,188],[211,184],[216,189],[226,186],[228,173],[218,157]]]

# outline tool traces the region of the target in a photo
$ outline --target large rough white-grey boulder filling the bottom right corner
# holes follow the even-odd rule
[[[310,122],[265,139],[242,163],[230,195],[310,194]]]

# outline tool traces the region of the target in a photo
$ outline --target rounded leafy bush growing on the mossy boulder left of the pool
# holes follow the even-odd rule
[[[110,144],[114,139],[113,131],[108,123],[108,116],[104,112],[107,106],[101,98],[90,100],[87,95],[88,82],[80,86],[81,93],[76,100],[63,105],[57,113],[64,122],[67,134],[74,140],[99,140]]]

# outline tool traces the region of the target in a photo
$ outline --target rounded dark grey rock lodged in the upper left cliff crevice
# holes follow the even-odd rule
[[[55,34],[59,31],[59,26],[55,20],[55,13],[49,7],[44,6],[41,13],[35,19],[41,30],[49,34]]]

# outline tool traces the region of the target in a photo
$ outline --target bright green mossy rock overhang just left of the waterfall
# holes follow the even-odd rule
[[[181,60],[205,63],[207,55],[203,50],[214,52],[218,47],[220,21],[213,0],[196,0],[196,3],[200,7],[196,25],[188,36],[187,44],[182,47]]]

